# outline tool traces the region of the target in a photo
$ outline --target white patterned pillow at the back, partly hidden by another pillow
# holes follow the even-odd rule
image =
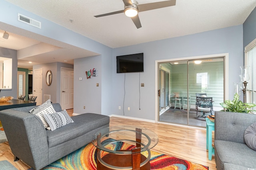
[[[38,116],[39,119],[44,124],[44,127],[47,130],[50,130],[50,126],[44,118],[44,114],[56,113],[50,99],[44,102],[43,104],[41,104],[40,106],[31,109],[29,112]]]

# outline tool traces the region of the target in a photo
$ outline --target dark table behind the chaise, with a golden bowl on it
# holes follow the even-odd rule
[[[8,102],[0,102],[0,110],[12,109],[16,107],[36,106],[36,102],[12,99]]]

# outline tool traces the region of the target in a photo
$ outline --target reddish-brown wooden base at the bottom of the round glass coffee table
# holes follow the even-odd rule
[[[141,167],[138,170],[150,170],[150,162],[143,163],[146,159],[144,155],[140,154]],[[120,155],[109,153],[102,157],[102,161],[112,165],[112,167],[106,167],[103,162],[99,161],[97,153],[97,170],[132,170],[132,155],[130,154]]]

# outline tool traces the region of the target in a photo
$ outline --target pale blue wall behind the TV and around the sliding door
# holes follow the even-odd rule
[[[182,37],[163,39],[149,43],[142,43],[113,50],[113,113],[130,117],[155,119],[155,61],[163,59],[176,59],[201,55],[228,53],[228,82],[229,96],[233,98],[233,82],[239,82],[240,66],[243,61],[243,27],[237,25],[223,29],[216,29]],[[116,56],[133,53],[144,53],[144,72],[126,73],[125,100],[124,100],[124,74],[116,73]],[[145,86],[140,88],[140,82]],[[139,95],[140,93],[140,95]],[[139,101],[140,99],[140,101]],[[123,106],[119,110],[118,106]],[[140,109],[139,109],[140,102]],[[130,111],[128,111],[130,107]]]

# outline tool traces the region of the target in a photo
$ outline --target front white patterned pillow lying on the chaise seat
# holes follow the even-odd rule
[[[74,121],[68,115],[66,110],[62,110],[57,113],[44,114],[44,118],[49,124],[51,131],[54,131],[62,126],[73,123]]]

